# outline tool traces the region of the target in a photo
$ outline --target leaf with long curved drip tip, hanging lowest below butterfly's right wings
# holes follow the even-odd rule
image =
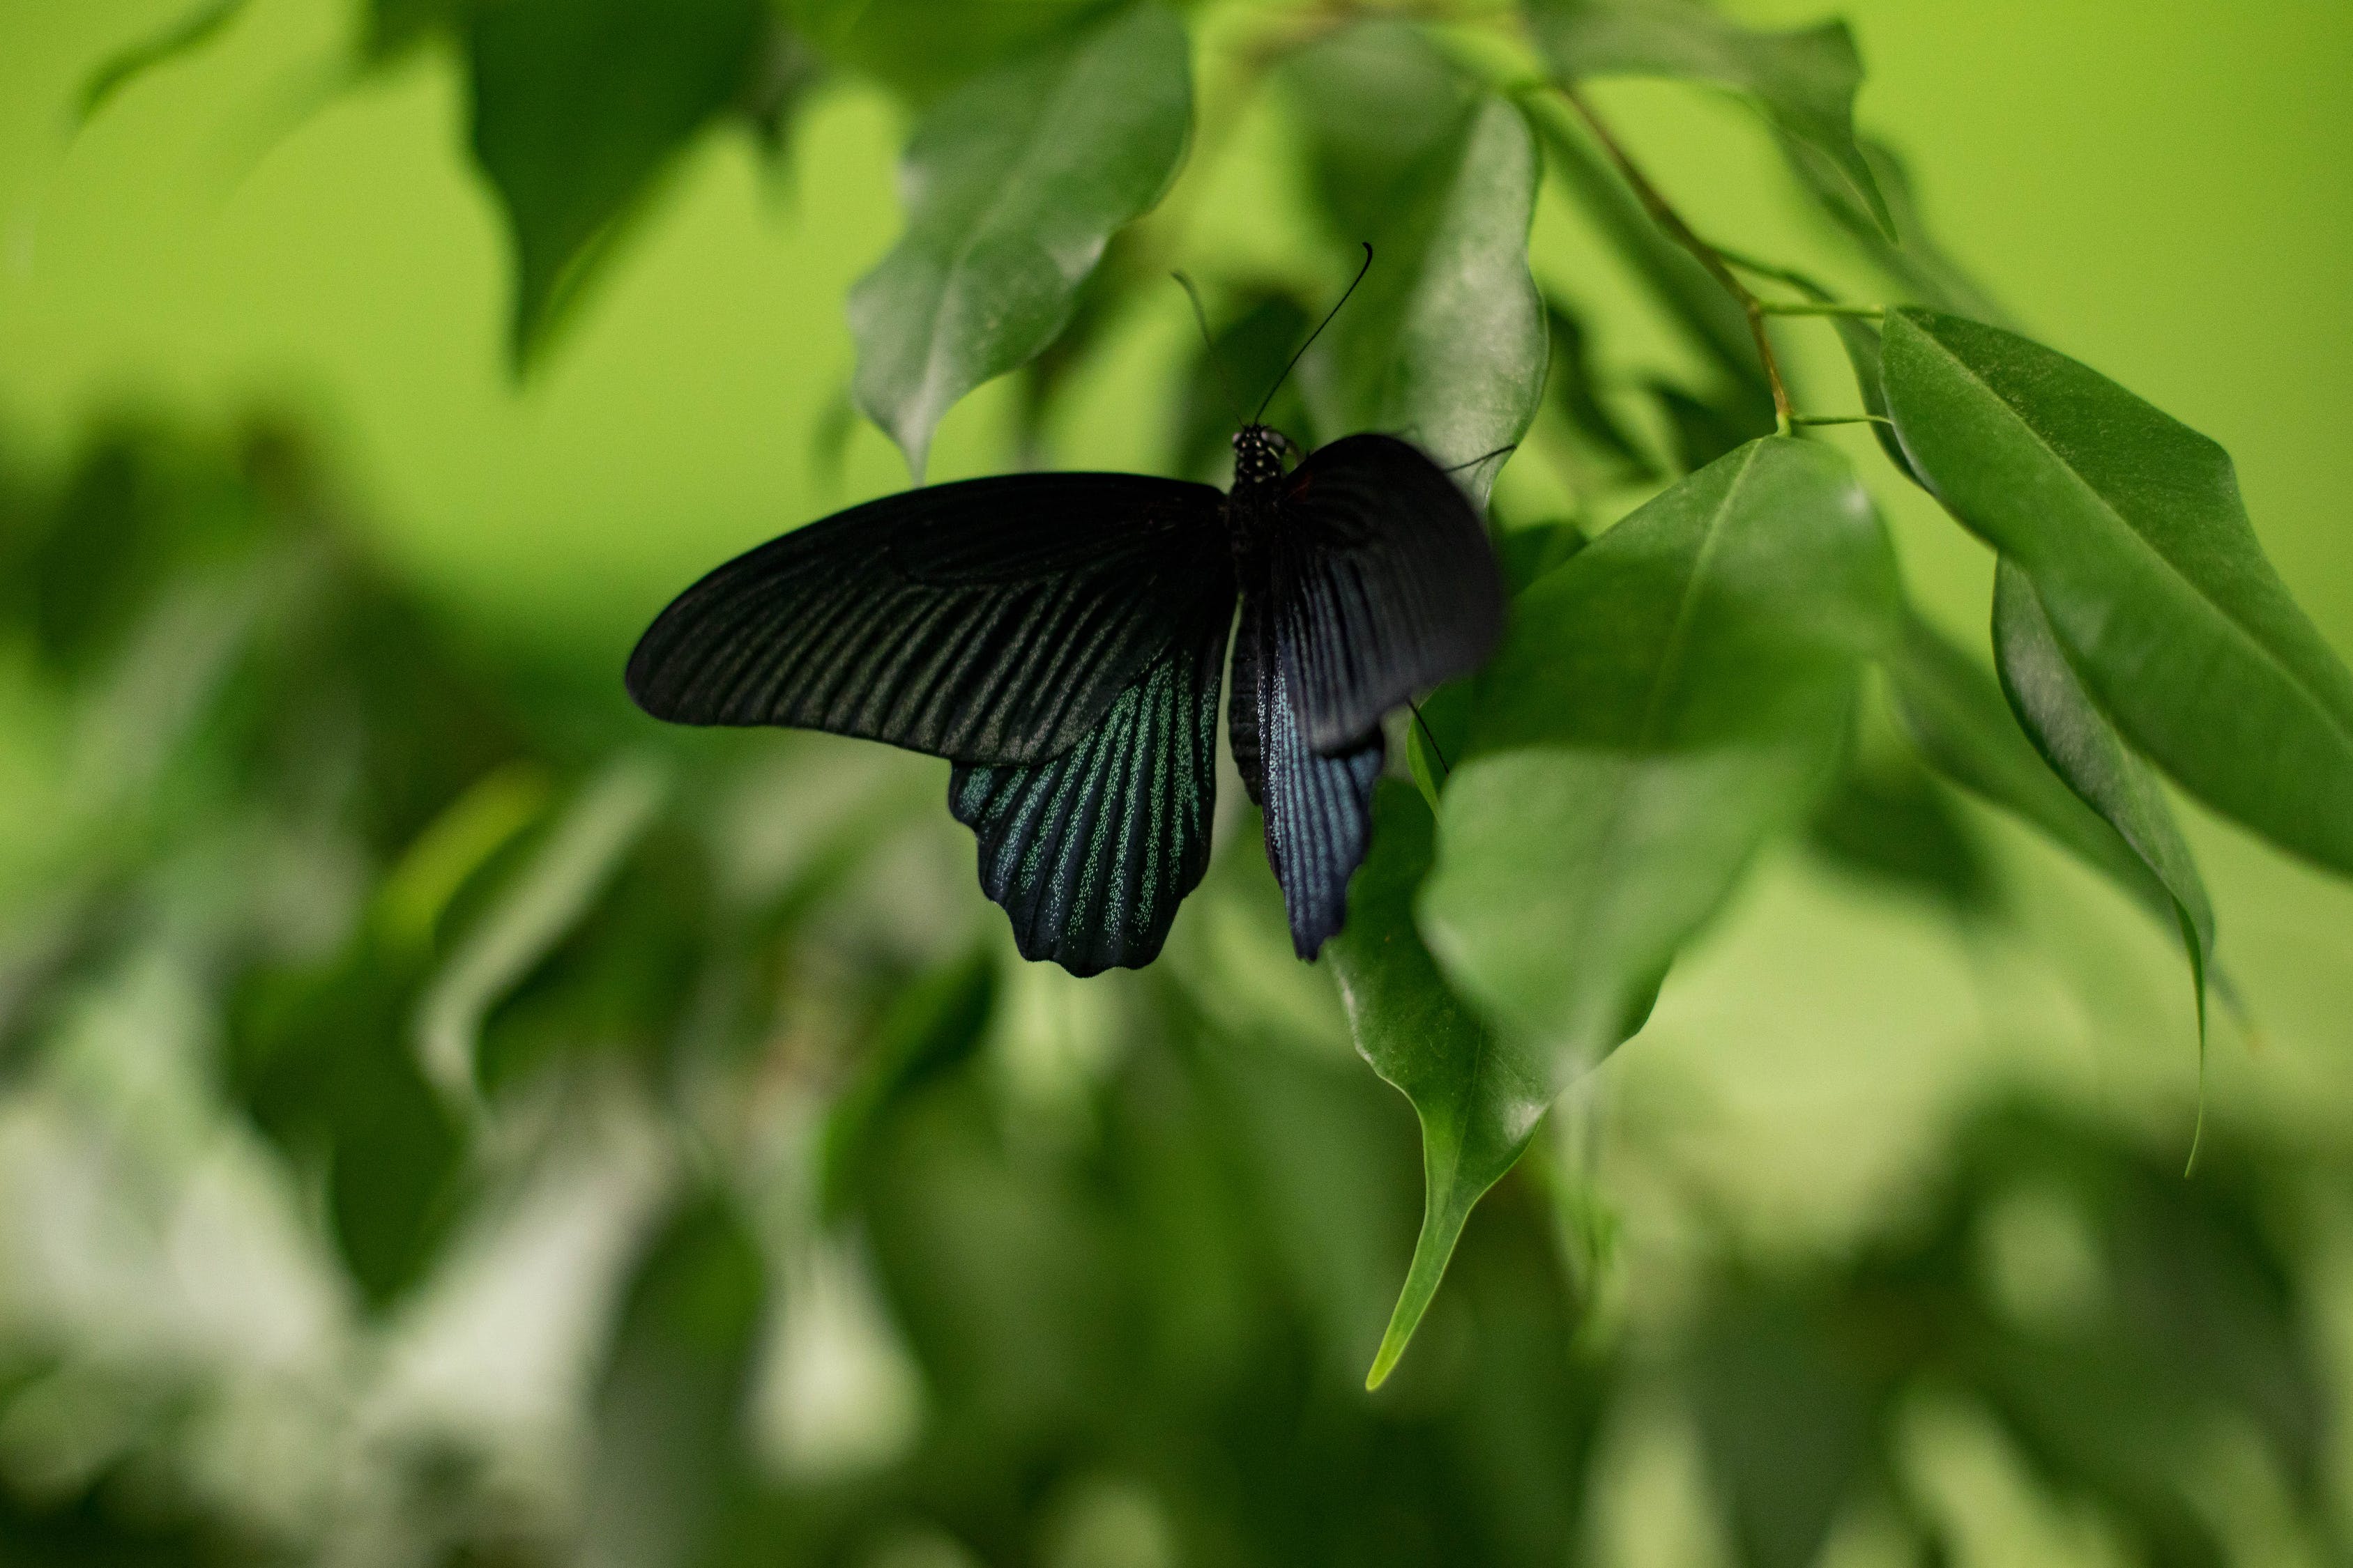
[[[1553,1103],[1544,1053],[1466,1009],[1414,931],[1414,891],[1435,832],[1428,806],[1391,778],[1374,795],[1372,823],[1372,853],[1348,884],[1348,929],[1332,943],[1332,969],[1355,1048],[1414,1103],[1424,1199],[1414,1262],[1367,1389],[1381,1387],[1414,1338],[1471,1206],[1520,1159]]]

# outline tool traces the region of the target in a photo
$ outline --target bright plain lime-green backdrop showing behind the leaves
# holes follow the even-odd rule
[[[527,386],[506,371],[508,263],[464,155],[440,54],[348,80],[336,0],[254,0],[226,38],[68,134],[111,49],[184,0],[0,0],[0,440],[61,463],[92,418],[320,430],[388,557],[482,635],[593,658],[722,555],[904,484],[859,430],[840,475],[816,430],[849,371],[842,292],[892,242],[880,94],[833,85],[788,169],[741,134],[699,143]],[[1807,21],[1805,5],[1734,7]],[[2257,531],[2353,654],[2353,9],[2219,0],[1854,0],[1861,120],[1906,153],[1951,249],[2040,339],[2221,440]],[[1212,14],[1207,35],[1219,35]],[[1607,94],[1711,237],[1826,259],[1748,122],[1666,87]],[[1195,158],[1186,247],[1228,266],[1304,244],[1266,160],[1278,110]],[[1598,306],[1605,364],[1666,353],[1548,195],[1539,273]],[[1598,266],[1598,263],[1595,263]],[[1188,322],[1169,289],[1056,411],[1049,458],[1153,465]],[[1784,329],[1819,411],[1852,407],[1828,334]],[[960,407],[932,477],[1007,463],[1005,388]],[[1913,590],[1981,637],[1991,557],[1849,442],[1897,522]],[[1541,498],[1541,477],[1522,475]],[[2259,1020],[2224,1027],[2209,1093],[2334,1128],[2353,1091],[2353,889],[2195,806],[2221,954]],[[38,825],[35,825],[38,830]],[[1798,856],[1767,865],[1678,966],[1649,1030],[1588,1093],[1689,1138],[1774,1246],[1878,1211],[1927,1128],[1991,1077],[2146,1114],[2188,1140],[2195,1048],[2167,940],[2092,875],[2002,830],[2024,910],[1955,943],[1927,912]],[[1640,1227],[1640,1194],[1628,1194]],[[2353,1293],[2341,1293],[2353,1295]],[[2353,1312],[2337,1314],[2353,1356]]]

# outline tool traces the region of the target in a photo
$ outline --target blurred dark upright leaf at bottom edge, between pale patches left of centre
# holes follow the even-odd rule
[[[751,1488],[744,1403],[765,1293],[760,1251],[727,1199],[694,1197],[654,1234],[595,1392],[579,1561],[708,1561],[729,1493]]]

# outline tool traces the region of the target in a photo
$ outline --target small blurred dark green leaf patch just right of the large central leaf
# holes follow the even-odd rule
[[[1833,865],[1934,898],[1962,919],[2000,907],[1969,825],[1908,757],[1852,759],[1814,809],[1807,839]]]

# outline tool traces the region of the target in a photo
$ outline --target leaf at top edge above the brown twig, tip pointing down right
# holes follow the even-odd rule
[[[1532,12],[1537,45],[1567,80],[1671,75],[1727,87],[1762,110],[1809,181],[1833,183],[1894,240],[1894,214],[1854,141],[1864,61],[1845,21],[1753,33],[1692,0],[1572,0]]]

